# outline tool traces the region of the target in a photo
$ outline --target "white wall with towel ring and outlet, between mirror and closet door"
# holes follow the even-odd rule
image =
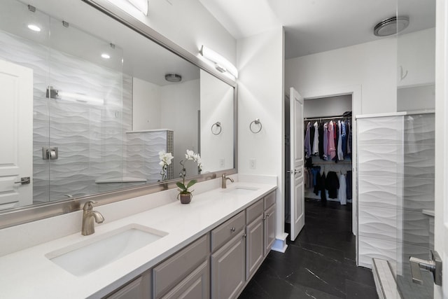
[[[276,235],[283,234],[283,28],[237,41],[238,172],[278,177]],[[260,118],[262,130],[249,124]],[[255,169],[249,160],[256,160]]]

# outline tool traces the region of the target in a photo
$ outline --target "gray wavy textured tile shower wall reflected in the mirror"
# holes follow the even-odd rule
[[[132,143],[127,147],[126,132],[132,130],[132,77],[6,32],[0,32],[0,57],[34,72],[35,202],[124,186],[95,183],[98,179],[123,175],[160,179],[158,151],[172,151],[173,134],[134,136],[132,142],[140,147],[135,151]],[[48,85],[104,99],[104,105],[47,99]],[[59,159],[43,160],[42,146],[57,146]],[[130,160],[125,161],[125,157]],[[168,170],[172,178],[172,167]]]

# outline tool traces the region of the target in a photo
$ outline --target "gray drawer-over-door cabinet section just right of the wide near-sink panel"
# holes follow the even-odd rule
[[[236,298],[246,284],[246,214],[211,231],[211,298]]]

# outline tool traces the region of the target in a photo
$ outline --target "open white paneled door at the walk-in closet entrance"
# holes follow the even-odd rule
[[[294,241],[305,224],[303,97],[290,88],[290,239]]]

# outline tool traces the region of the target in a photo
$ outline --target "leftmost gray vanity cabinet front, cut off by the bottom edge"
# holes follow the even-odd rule
[[[113,293],[106,295],[106,299],[146,299],[151,298],[151,270],[142,274]]]

